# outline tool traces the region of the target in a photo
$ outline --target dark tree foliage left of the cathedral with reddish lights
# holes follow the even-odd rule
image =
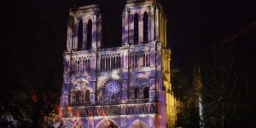
[[[0,94],[3,127],[53,127],[47,120],[54,101],[39,90],[9,90]]]

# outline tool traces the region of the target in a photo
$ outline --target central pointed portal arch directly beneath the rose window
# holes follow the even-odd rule
[[[104,118],[97,125],[96,128],[119,128],[113,119]]]

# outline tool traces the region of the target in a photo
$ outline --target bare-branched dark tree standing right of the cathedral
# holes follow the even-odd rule
[[[232,51],[231,47],[213,49],[201,64],[200,93],[208,126],[230,127],[241,119],[240,110],[245,105],[241,89],[247,79]]]

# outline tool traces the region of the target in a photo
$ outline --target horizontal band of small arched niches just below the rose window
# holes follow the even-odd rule
[[[114,115],[133,115],[133,114],[154,114],[156,105],[152,103],[144,104],[122,104],[104,105],[89,107],[66,107],[61,108],[62,118],[90,117],[90,116],[114,116]]]

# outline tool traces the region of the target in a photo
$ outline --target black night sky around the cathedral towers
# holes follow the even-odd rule
[[[36,85],[60,93],[68,9],[74,3],[79,6],[94,2],[102,5],[113,26],[109,33],[114,38],[105,44],[120,44],[120,15],[125,0],[2,0],[1,88]],[[255,0],[160,0],[160,3],[168,20],[167,41],[172,48],[174,67],[185,67],[199,50],[256,21]],[[255,33],[254,28],[241,38],[241,53],[250,62],[255,60]]]

